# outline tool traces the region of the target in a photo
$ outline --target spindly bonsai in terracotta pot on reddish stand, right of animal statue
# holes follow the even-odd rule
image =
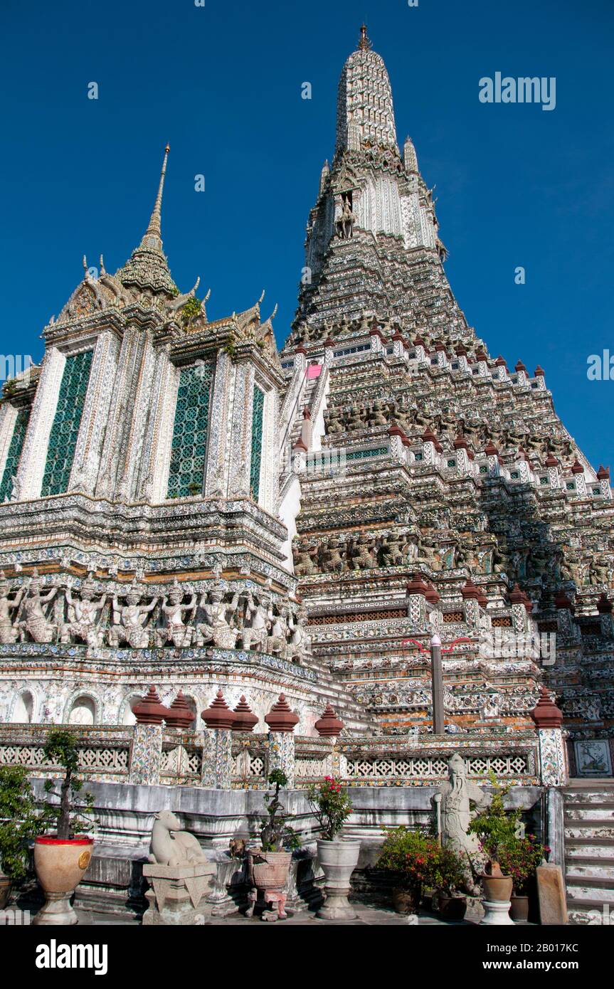
[[[246,916],[253,915],[258,890],[261,890],[265,901],[276,902],[278,916],[285,918],[286,897],[283,891],[288,880],[293,850],[299,848],[300,841],[287,823],[289,815],[282,813],[284,806],[279,799],[280,789],[288,785],[288,776],[282,769],[273,769],[268,781],[275,789],[265,796],[268,816],[262,822],[260,847],[247,850],[247,879],[251,892]]]

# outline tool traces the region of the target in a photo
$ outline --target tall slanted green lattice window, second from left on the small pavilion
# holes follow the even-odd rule
[[[92,368],[92,350],[66,358],[44,464],[41,495],[68,488]]]

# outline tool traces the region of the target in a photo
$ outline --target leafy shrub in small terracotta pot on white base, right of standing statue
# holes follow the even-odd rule
[[[482,873],[483,905],[486,911],[482,924],[513,924],[508,916],[512,877],[501,871],[503,850],[516,840],[520,811],[506,811],[503,801],[509,786],[501,786],[490,772],[493,788],[488,807],[471,821],[469,834],[477,835],[486,861]]]

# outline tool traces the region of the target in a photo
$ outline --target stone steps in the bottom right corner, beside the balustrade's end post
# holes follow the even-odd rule
[[[563,799],[570,924],[612,924],[614,779],[571,779]]]

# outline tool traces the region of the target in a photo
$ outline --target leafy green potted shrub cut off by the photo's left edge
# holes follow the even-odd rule
[[[28,769],[0,766],[0,910],[8,903],[12,884],[28,874],[29,842],[48,826],[49,816],[37,802]]]

